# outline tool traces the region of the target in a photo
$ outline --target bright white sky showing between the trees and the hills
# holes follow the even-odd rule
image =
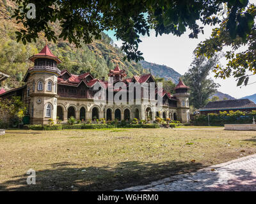
[[[193,50],[195,50],[200,41],[204,41],[211,36],[212,28],[214,27],[210,25],[205,26],[204,34],[199,34],[197,39],[188,37],[190,31],[186,31],[186,33],[182,34],[180,37],[173,36],[172,34],[163,34],[162,36],[156,37],[155,32],[150,31],[149,37],[147,35],[141,36],[142,42],[139,44],[139,50],[143,53],[142,56],[145,61],[161,65],[164,64],[173,68],[180,73],[180,75],[184,75],[193,61]],[[118,47],[122,45],[122,41],[116,40],[114,31],[108,31],[106,33],[113,39]],[[227,48],[225,50],[227,50]],[[226,64],[225,58],[221,59],[221,64]],[[221,78],[215,78],[214,73],[211,73],[210,77],[214,82],[221,85],[218,91],[229,94],[234,98],[242,98],[256,93],[256,84],[240,88],[236,86],[237,82],[233,77],[223,80]],[[256,76],[251,77],[249,84],[250,82],[256,82]]]

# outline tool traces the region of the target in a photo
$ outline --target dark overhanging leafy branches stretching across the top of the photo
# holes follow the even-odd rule
[[[36,18],[27,18],[30,0],[13,0],[18,5],[13,18],[22,23],[24,28],[17,31],[17,40],[24,44],[36,41],[38,34],[45,34],[48,41],[58,38],[73,42],[77,46],[81,41],[92,43],[100,39],[102,31],[116,31],[116,38],[124,41],[122,50],[128,60],[141,60],[142,53],[138,51],[141,42],[140,35],[149,36],[150,29],[158,34],[174,34],[180,36],[186,29],[191,33],[190,38],[197,38],[198,33],[204,33],[206,25],[215,25],[220,20],[223,3],[227,3],[227,29],[232,36],[234,27],[253,21],[246,11],[248,0],[41,0],[34,1]],[[245,11],[244,11],[245,10]],[[244,12],[248,18],[243,18]],[[52,24],[60,22],[60,33],[55,33]],[[241,29],[240,29],[241,30]],[[240,34],[248,34],[249,30],[241,30]]]

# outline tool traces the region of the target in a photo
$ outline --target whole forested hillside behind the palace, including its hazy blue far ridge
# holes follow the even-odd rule
[[[33,63],[28,61],[28,57],[40,52],[47,40],[42,34],[36,43],[26,45],[17,43],[15,31],[22,27],[19,27],[15,19],[11,18],[14,8],[17,7],[13,1],[0,0],[0,8],[0,71],[11,76],[2,84],[8,90],[22,85],[24,74],[29,66],[33,66]],[[52,27],[56,33],[60,33],[58,24],[53,24]],[[156,77],[164,77],[175,83],[180,77],[179,73],[166,66],[146,61],[141,63],[123,61],[122,50],[113,45],[113,40],[104,33],[102,33],[102,40],[95,40],[90,45],[82,45],[81,48],[76,48],[63,40],[58,40],[56,44],[49,42],[48,45],[52,53],[63,61],[58,68],[68,69],[74,74],[90,71],[93,77],[108,78],[109,69],[113,69],[118,64],[120,68],[127,71],[127,77],[151,72]]]

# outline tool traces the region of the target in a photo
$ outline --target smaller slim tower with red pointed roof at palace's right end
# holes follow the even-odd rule
[[[186,86],[181,78],[179,79],[179,84],[174,88],[175,94],[174,96],[179,99],[177,101],[177,108],[178,108],[178,120],[182,123],[189,122],[189,87]]]

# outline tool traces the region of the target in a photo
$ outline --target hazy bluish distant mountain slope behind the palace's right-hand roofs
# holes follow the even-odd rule
[[[155,77],[158,76],[164,78],[165,80],[172,80],[172,82],[175,84],[179,83],[179,78],[181,75],[177,73],[177,71],[175,71],[173,68],[147,61],[140,61],[140,64],[144,69],[148,69],[148,71]]]

